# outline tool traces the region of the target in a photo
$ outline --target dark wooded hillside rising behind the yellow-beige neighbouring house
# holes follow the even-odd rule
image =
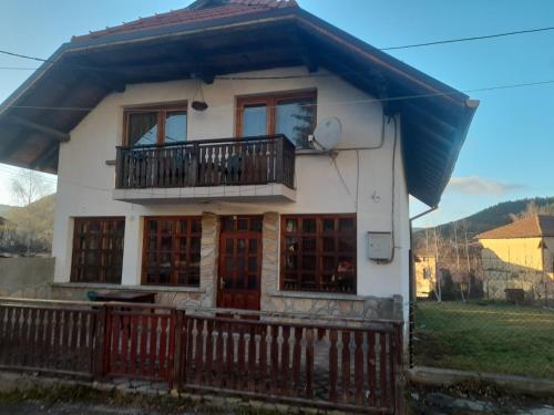
[[[531,204],[534,204],[534,206],[537,209],[541,209],[541,211],[554,215],[554,197],[536,197],[530,199],[503,201],[456,221],[440,225],[437,229],[444,239],[453,239],[454,224],[456,224],[459,231],[463,232],[463,221],[465,220],[465,226],[468,228],[468,239],[471,240],[476,235],[485,230],[494,229],[499,226],[512,222],[512,216],[520,215],[526,211],[527,206],[530,206]],[[423,235],[424,229],[414,231],[416,247],[418,246],[418,240],[423,237]],[[461,234],[459,234],[459,236]]]

